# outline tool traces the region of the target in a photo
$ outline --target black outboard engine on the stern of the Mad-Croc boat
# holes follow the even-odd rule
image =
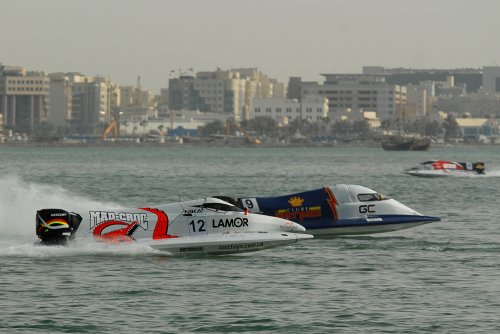
[[[36,235],[43,244],[64,245],[74,237],[82,217],[61,209],[43,209],[36,212]]]

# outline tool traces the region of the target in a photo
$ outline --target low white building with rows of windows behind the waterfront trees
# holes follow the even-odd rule
[[[276,122],[286,125],[299,119],[318,122],[328,116],[328,99],[325,97],[310,97],[302,100],[286,98],[255,98],[252,102],[250,119],[270,117]]]

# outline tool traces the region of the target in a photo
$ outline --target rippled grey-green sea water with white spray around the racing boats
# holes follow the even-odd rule
[[[0,147],[4,333],[498,333],[500,148]],[[488,177],[402,173],[485,161]],[[35,247],[40,208],[361,184],[442,222],[231,256]]]

